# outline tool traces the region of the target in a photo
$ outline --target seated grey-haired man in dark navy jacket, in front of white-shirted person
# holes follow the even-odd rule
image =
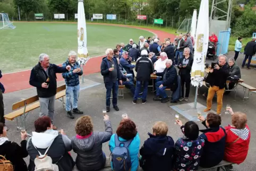
[[[161,76],[161,81],[156,82],[157,94],[153,100],[161,100],[161,102],[169,101],[165,89],[171,88],[173,84],[177,82],[177,71],[172,64],[173,61],[171,59],[167,59],[166,69],[164,72],[156,73],[157,76]]]

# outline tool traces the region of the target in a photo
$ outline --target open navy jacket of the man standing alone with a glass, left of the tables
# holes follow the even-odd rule
[[[112,66],[110,66],[110,64],[107,60],[108,60],[107,57],[104,57],[102,59],[101,65],[100,65],[100,73],[101,73],[101,75],[103,75],[104,83],[109,83],[110,81],[112,81],[111,76],[110,76],[110,71],[109,71],[109,68]],[[113,60],[115,62],[114,67],[115,67],[115,69],[117,69],[117,79],[118,79],[118,81],[120,81],[120,80],[122,80],[120,69],[119,69],[116,58],[113,57]]]

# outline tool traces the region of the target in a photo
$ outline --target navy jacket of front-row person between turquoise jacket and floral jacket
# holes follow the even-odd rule
[[[144,141],[140,149],[141,167],[147,171],[169,171],[172,169],[174,155],[174,141],[170,136],[155,136],[148,133],[149,138]]]

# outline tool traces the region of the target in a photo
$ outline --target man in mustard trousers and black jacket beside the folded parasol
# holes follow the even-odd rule
[[[203,112],[211,110],[212,98],[217,93],[217,114],[221,113],[222,98],[225,91],[226,81],[229,75],[229,69],[226,65],[227,57],[219,55],[219,64],[215,64],[214,69],[210,69],[206,82],[210,84],[207,96],[207,108]]]

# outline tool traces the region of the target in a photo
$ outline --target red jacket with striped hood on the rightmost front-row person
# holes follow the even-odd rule
[[[233,126],[228,125],[225,127],[225,130],[226,148],[224,160],[235,164],[241,164],[245,160],[249,150],[249,143],[251,138],[249,127],[246,125],[244,129],[238,130]],[[234,142],[238,136],[240,138]]]

